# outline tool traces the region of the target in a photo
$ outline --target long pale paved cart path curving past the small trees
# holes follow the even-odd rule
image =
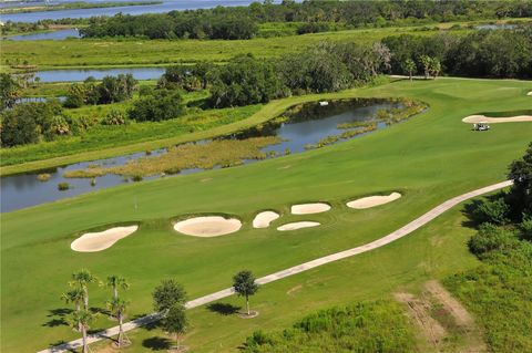
[[[453,198],[444,201],[443,204],[432,208],[431,210],[429,210],[427,214],[422,215],[421,217],[416,218],[415,220],[412,220],[411,222],[409,222],[405,227],[399,228],[396,231],[389,233],[386,237],[382,237],[382,238],[377,239],[375,241],[368,242],[368,243],[366,243],[364,246],[360,246],[360,247],[356,247],[356,248],[348,249],[348,250],[345,250],[345,251],[331,253],[329,256],[318,258],[318,259],[315,259],[315,260],[311,260],[311,261],[308,261],[308,262],[305,262],[305,263],[301,263],[301,264],[298,264],[298,266],[295,266],[295,267],[290,267],[289,269],[282,270],[282,271],[262,277],[262,278],[257,279],[257,283],[259,283],[259,284],[270,283],[270,282],[280,280],[280,279],[289,277],[289,276],[294,276],[294,274],[297,274],[297,273],[300,273],[300,272],[304,272],[304,271],[308,271],[308,270],[317,268],[318,266],[321,266],[321,264],[335,262],[335,261],[338,261],[338,260],[341,260],[341,259],[345,259],[345,258],[352,257],[355,255],[359,255],[359,253],[362,253],[362,252],[366,252],[366,251],[370,251],[370,250],[383,247],[387,243],[396,241],[396,240],[411,233],[416,229],[427,225],[432,219],[440,216],[444,211],[451,209],[452,207],[454,207],[454,206],[457,206],[457,205],[459,205],[459,204],[461,204],[461,203],[463,203],[468,199],[471,199],[473,197],[477,197],[477,196],[480,196],[480,195],[483,195],[483,194],[488,194],[488,193],[495,191],[495,190],[499,190],[501,188],[511,186],[512,183],[513,181],[511,181],[511,180],[502,181],[502,183],[498,183],[498,184],[494,184],[494,185],[490,185],[490,186],[477,189],[474,191],[470,191],[470,193],[453,197]],[[227,297],[233,295],[233,294],[234,294],[233,288],[227,288],[227,289],[221,290],[218,292],[191,300],[186,303],[186,308],[187,309],[197,308],[197,307],[211,303],[213,301],[217,301],[219,299],[227,298]],[[151,322],[156,321],[156,320],[158,320],[158,314],[153,313],[153,314],[150,314],[150,315],[146,315],[146,316],[143,316],[143,318],[140,318],[140,319],[136,319],[136,320],[133,320],[133,321],[130,321],[130,322],[125,323],[123,325],[123,329],[124,329],[124,331],[131,331],[131,330],[134,330],[139,326],[145,325],[145,324],[151,323]],[[101,340],[106,340],[106,339],[110,339],[110,338],[116,335],[117,333],[119,333],[119,326],[114,326],[114,328],[108,329],[105,331],[89,335],[89,341],[88,342],[89,343],[94,343],[94,342],[98,342],[98,341],[101,341]],[[74,350],[74,349],[78,349],[78,347],[81,347],[81,346],[82,346],[82,340],[79,339],[79,340],[74,340],[74,341],[71,341],[71,342],[66,342],[66,343],[50,347],[48,350],[40,351],[39,353],[64,352],[64,351]]]

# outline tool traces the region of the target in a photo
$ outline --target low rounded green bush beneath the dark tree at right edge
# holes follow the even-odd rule
[[[469,250],[478,257],[505,248],[511,248],[515,243],[513,232],[499,228],[491,224],[483,224],[479,231],[469,240]]]

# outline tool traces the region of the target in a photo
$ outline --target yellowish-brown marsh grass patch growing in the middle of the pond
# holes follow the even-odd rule
[[[178,174],[184,169],[212,169],[242,165],[244,159],[265,159],[267,153],[263,147],[278,144],[276,136],[253,137],[246,139],[215,139],[206,144],[183,144],[168,148],[164,155],[142,157],[131,160],[123,166],[95,167],[66,172],[66,178],[94,178],[106,174],[131,176],[134,181],[139,178],[161,174]]]

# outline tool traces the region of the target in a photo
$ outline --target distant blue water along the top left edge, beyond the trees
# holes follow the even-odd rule
[[[104,2],[108,0],[84,0],[86,2]],[[113,0],[116,1],[116,0]],[[119,0],[120,1],[120,0]],[[127,0],[122,0],[127,1]],[[73,1],[53,1],[58,2],[73,2]],[[37,22],[41,20],[59,20],[65,18],[79,19],[90,18],[93,15],[115,15],[116,13],[142,14],[142,13],[161,13],[174,10],[194,10],[194,9],[209,9],[218,6],[222,7],[239,7],[248,6],[253,0],[163,0],[160,4],[150,6],[125,6],[117,8],[100,8],[100,9],[74,9],[74,10],[59,10],[59,11],[42,11],[28,13],[11,13],[2,14],[2,22]],[[279,0],[275,2],[280,2]],[[31,6],[37,3],[32,2]],[[28,6],[28,3],[25,4]],[[12,7],[12,4],[11,4]]]

